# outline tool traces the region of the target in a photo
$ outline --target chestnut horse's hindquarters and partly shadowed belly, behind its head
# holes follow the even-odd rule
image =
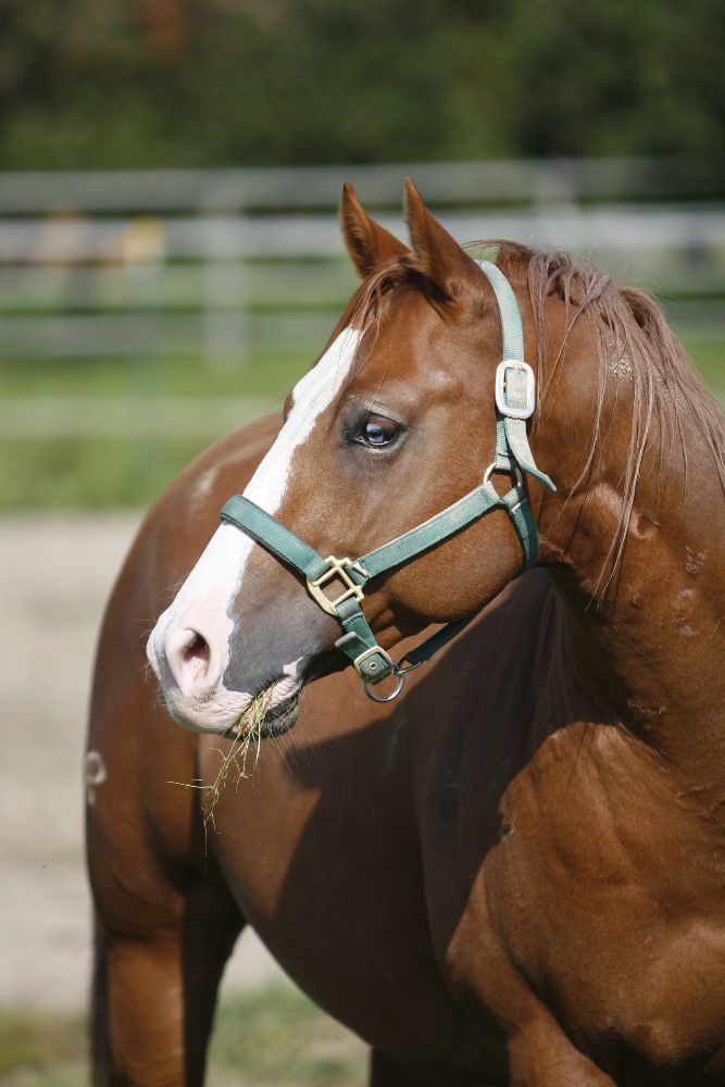
[[[170,721],[133,624],[159,611],[203,548],[229,476],[238,486],[252,474],[278,425],[246,428],[176,482],[147,518],[109,605],[89,734],[109,773],[89,810],[89,860],[103,934],[99,982],[115,999],[111,1022],[98,1024],[110,1037],[97,1046],[111,1044],[108,1059],[128,1082],[196,1082],[218,977],[249,922],[307,991],[378,1048],[476,1078],[492,1063],[504,1082],[500,1032],[490,1024],[482,1037],[432,940],[412,779],[422,734],[407,721],[409,700],[390,721],[389,708],[345,676],[320,680],[299,733],[265,741],[236,787],[233,772],[205,834],[203,795],[170,784],[213,780],[228,741]],[[364,805],[354,799],[361,780]]]

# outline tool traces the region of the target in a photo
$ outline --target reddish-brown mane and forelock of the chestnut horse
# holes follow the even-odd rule
[[[572,332],[582,317],[589,322],[597,348],[598,391],[591,446],[578,480],[585,489],[595,466],[611,380],[632,387],[632,429],[621,478],[622,502],[602,570],[603,575],[609,566],[609,583],[624,551],[648,446],[659,436],[660,472],[665,470],[665,454],[678,446],[687,477],[683,423],[688,415],[712,457],[725,493],[725,417],[660,305],[645,290],[616,284],[607,273],[562,249],[537,250],[501,240],[476,241],[466,249],[496,249],[496,264],[514,285],[528,290],[536,328],[539,404],[543,409],[537,413],[537,429],[546,422],[546,401],[555,391]],[[405,253],[386,262],[361,286],[352,301],[352,322],[358,327],[377,325],[382,299],[412,282],[417,282],[432,299],[441,300],[435,285],[426,280],[415,254]],[[547,301],[551,296],[563,301],[566,312],[564,338],[553,359],[548,358]]]

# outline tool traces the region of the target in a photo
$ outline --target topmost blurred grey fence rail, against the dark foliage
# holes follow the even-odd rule
[[[336,208],[343,182],[371,207],[398,207],[405,177],[434,205],[722,199],[722,155],[428,162],[247,170],[59,171],[0,175],[0,214],[76,210]]]

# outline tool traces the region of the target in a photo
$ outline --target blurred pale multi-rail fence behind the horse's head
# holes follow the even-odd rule
[[[458,240],[562,246],[674,299],[673,320],[687,336],[725,339],[724,164],[713,157],[0,174],[0,360],[195,355],[215,367],[291,350],[313,358],[355,285],[335,213],[342,182],[404,238],[405,175]],[[70,403],[55,414],[16,407],[25,423],[9,422],[7,408],[0,436],[72,426]],[[76,407],[78,433],[88,433],[86,408]],[[133,432],[123,423],[132,408],[118,409],[116,430]]]

